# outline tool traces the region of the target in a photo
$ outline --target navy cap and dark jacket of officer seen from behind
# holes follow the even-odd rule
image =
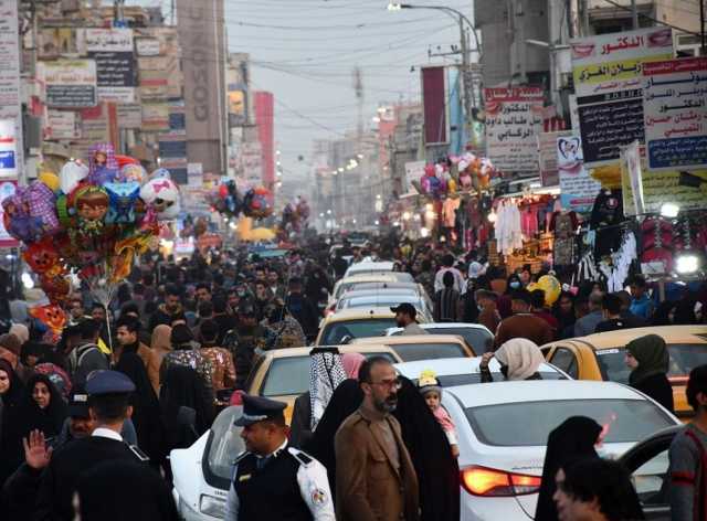
[[[89,396],[126,394],[135,391],[128,376],[117,371],[96,371],[86,381]],[[68,442],[53,455],[42,474],[33,519],[74,519],[73,495],[78,478],[102,461],[146,461],[147,458],[135,446],[129,446],[115,430],[96,428],[91,436]]]

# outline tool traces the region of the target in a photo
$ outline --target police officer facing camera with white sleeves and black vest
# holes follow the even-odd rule
[[[324,466],[287,446],[285,404],[243,396],[246,451],[235,460],[225,521],[335,521],[334,503]]]

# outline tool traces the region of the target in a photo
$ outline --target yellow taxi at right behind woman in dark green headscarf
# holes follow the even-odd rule
[[[659,326],[633,328],[558,340],[540,348],[552,365],[576,380],[606,380],[629,383],[631,370],[624,362],[625,345],[645,334],[659,334],[671,354],[668,380],[673,385],[675,414],[689,417],[685,397],[689,372],[707,362],[707,326]]]

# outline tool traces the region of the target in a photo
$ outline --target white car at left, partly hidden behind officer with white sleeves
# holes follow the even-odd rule
[[[173,475],[172,496],[180,519],[213,521],[223,519],[225,499],[231,487],[233,461],[245,450],[241,427],[233,422],[243,407],[224,408],[211,428],[189,448],[169,455]]]

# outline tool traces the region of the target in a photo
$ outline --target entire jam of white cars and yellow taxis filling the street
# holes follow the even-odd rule
[[[571,416],[589,416],[604,427],[598,451],[632,472],[648,519],[669,519],[667,449],[680,418],[689,414],[685,385],[707,354],[707,327],[630,329],[556,341],[541,347],[546,362],[538,380],[504,381],[500,364],[492,359],[494,382],[482,383],[481,355],[493,350],[494,333],[476,323],[433,323],[422,286],[392,269],[392,263],[352,265],[334,287],[315,345],[260,353],[246,392],[286,402],[289,422],[295,398],[309,389],[316,349],[386,357],[415,384],[423,371],[432,371],[457,429],[461,519],[467,521],[534,519],[549,433]],[[391,310],[401,302],[415,307],[428,334],[402,334]],[[624,347],[647,333],[667,343],[676,415],[627,385]],[[172,451],[173,493],[183,519],[223,517],[231,464],[244,450],[232,426],[240,414],[240,406],[226,407],[191,447]]]

